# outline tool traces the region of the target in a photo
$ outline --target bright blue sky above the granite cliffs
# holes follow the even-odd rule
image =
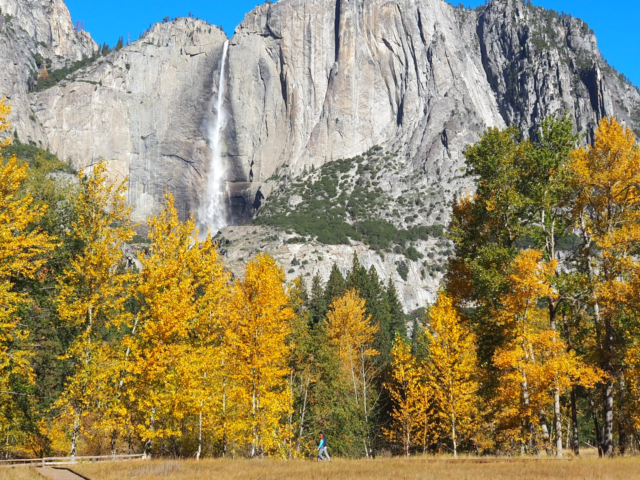
[[[119,36],[131,33],[135,40],[150,23],[164,17],[186,17],[189,12],[232,35],[246,12],[261,0],[129,0],[116,2],[66,0],[74,21],[82,20],[96,42],[114,45]],[[458,4],[458,2],[452,2]],[[466,0],[468,6],[484,0]],[[596,0],[533,0],[536,5],[571,13],[586,21],[598,37],[598,46],[609,63],[640,86],[640,2]]]

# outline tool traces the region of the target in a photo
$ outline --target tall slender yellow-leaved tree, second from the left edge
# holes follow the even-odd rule
[[[72,419],[72,457],[76,455],[83,413],[114,400],[113,395],[100,398],[105,388],[113,392],[117,372],[109,370],[113,376],[105,379],[108,387],[97,383],[97,373],[109,365],[93,362],[94,357],[104,360],[99,353],[104,352],[99,332],[119,328],[130,317],[125,301],[134,275],[127,271],[121,250],[122,244],[134,236],[131,207],[127,207],[127,180],[108,184],[106,168],[103,160],[93,166],[88,176],[82,171],[78,174],[80,188],[71,199],[75,213],[72,236],[83,250],[70,260],[58,281],[60,319],[79,330],[67,353],[74,358],[75,372],[58,401]],[[116,424],[118,420],[113,419],[113,428]]]

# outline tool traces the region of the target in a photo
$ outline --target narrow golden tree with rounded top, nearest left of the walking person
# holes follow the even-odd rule
[[[244,432],[252,457],[282,451],[286,431],[282,420],[289,415],[287,360],[291,346],[287,336],[294,316],[284,289],[284,270],[266,254],[248,262],[244,278],[236,281],[237,313],[234,374],[241,390]]]

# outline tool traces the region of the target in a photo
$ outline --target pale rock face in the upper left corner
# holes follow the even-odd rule
[[[0,93],[12,104],[10,120],[26,139],[47,145],[33,115],[29,81],[38,75],[35,56],[49,59],[49,70],[90,56],[98,46],[86,31],[77,31],[62,0],[0,0]]]

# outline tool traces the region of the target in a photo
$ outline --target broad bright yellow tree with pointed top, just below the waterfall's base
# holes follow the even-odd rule
[[[148,221],[151,245],[141,260],[137,328],[124,339],[131,350],[127,381],[138,405],[136,431],[149,455],[154,440],[181,436],[194,415],[202,451],[204,416],[214,408],[218,387],[214,347],[230,305],[229,276],[211,236],[198,241],[193,218],[179,220],[172,195],[165,202]]]

